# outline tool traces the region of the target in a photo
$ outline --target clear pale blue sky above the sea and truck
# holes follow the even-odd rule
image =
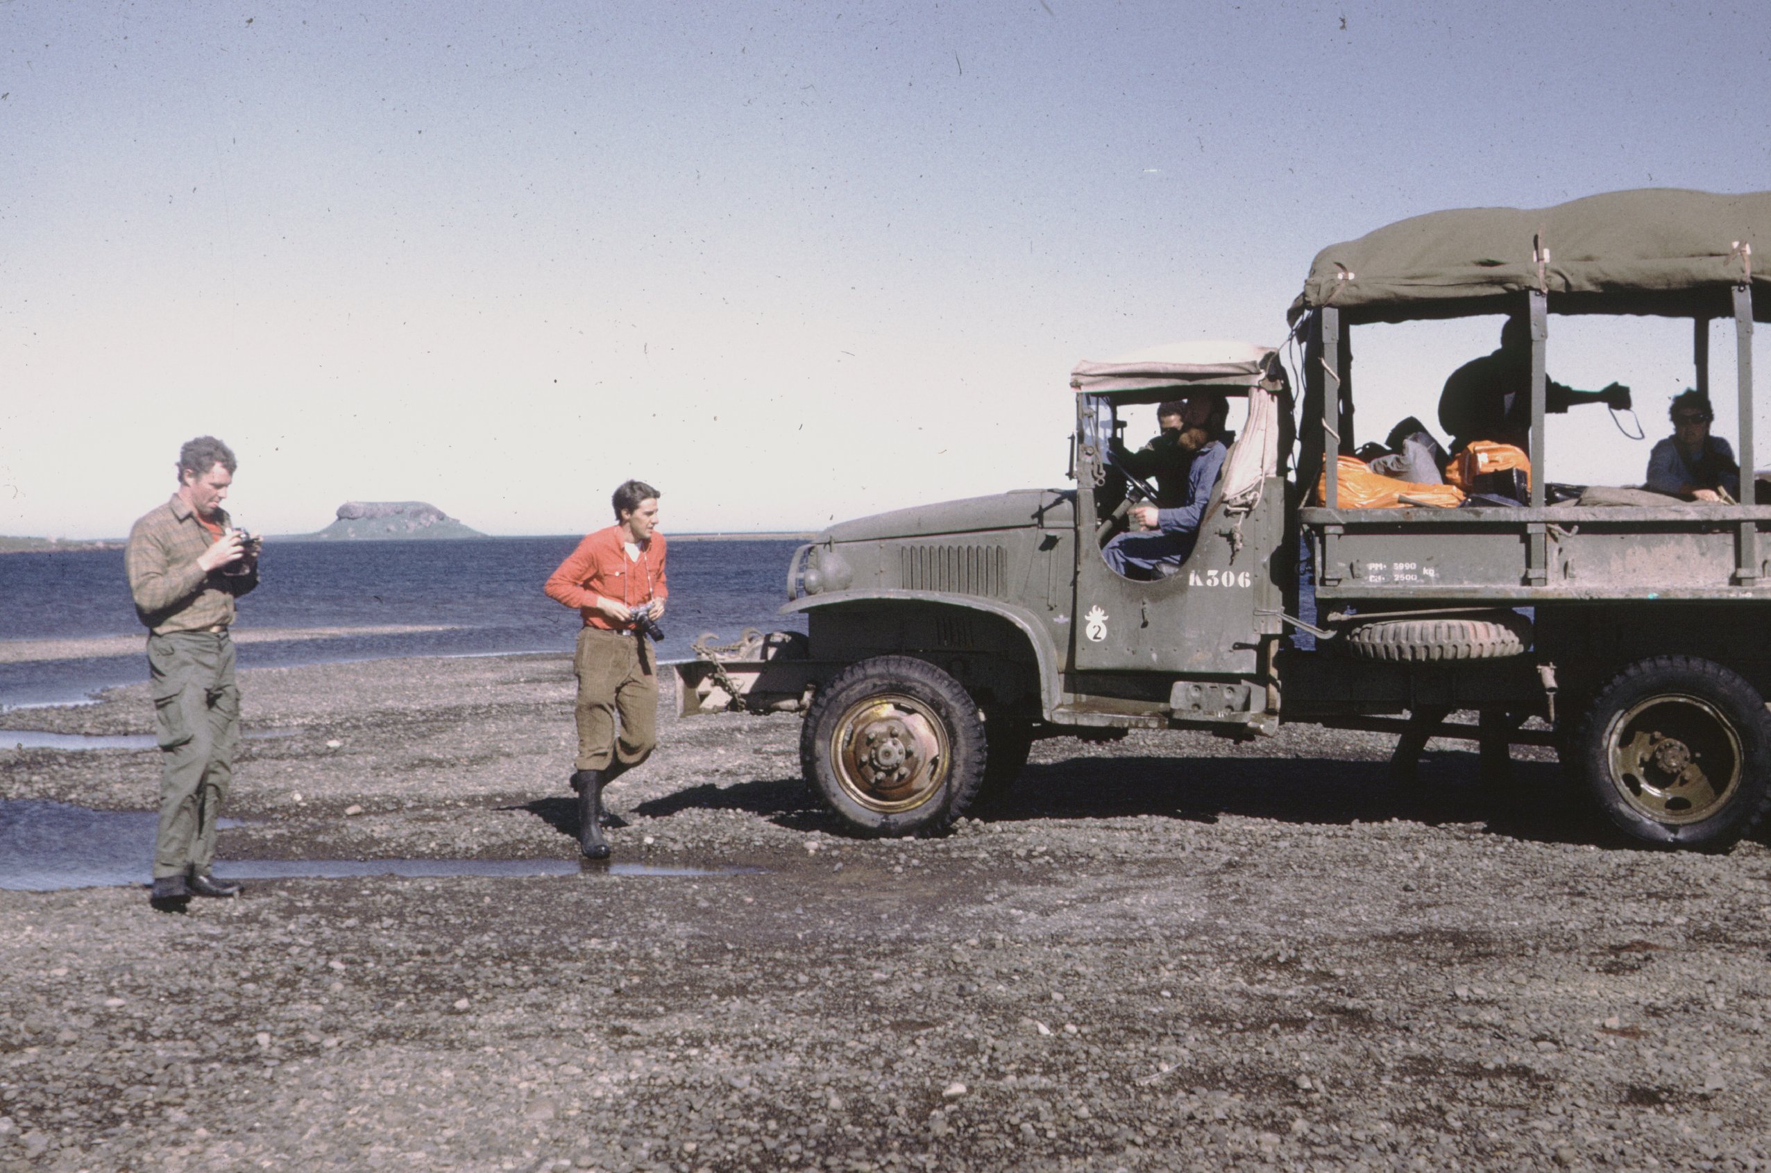
[[[1325,244],[1771,186],[1767,58],[1732,4],[4,0],[0,533],[120,534],[202,432],[266,533],[1061,485],[1077,359],[1275,341]],[[1551,373],[1663,432],[1690,329],[1580,331]],[[1362,421],[1493,333],[1357,340]],[[1557,425],[1551,476],[1640,478]]]

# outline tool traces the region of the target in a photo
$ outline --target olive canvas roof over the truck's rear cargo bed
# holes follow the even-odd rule
[[[1541,290],[1555,313],[1732,317],[1755,287],[1771,320],[1771,191],[1610,191],[1544,209],[1470,207],[1397,221],[1316,255],[1289,318],[1335,306],[1348,324],[1509,313]]]

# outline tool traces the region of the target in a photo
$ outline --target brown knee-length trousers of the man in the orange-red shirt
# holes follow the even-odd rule
[[[572,669],[577,672],[577,770],[611,764],[627,770],[650,757],[659,743],[657,656],[650,640],[634,632],[581,628]]]

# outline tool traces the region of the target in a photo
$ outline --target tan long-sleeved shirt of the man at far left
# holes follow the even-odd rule
[[[216,520],[227,527],[227,511]],[[259,586],[257,566],[244,575],[204,573],[197,559],[214,540],[177,494],[129,529],[129,594],[135,614],[156,635],[225,628],[234,623],[234,598]]]

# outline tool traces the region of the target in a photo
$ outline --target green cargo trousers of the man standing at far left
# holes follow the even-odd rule
[[[207,872],[239,747],[234,640],[227,632],[149,635],[147,671],[159,734],[154,879]]]

